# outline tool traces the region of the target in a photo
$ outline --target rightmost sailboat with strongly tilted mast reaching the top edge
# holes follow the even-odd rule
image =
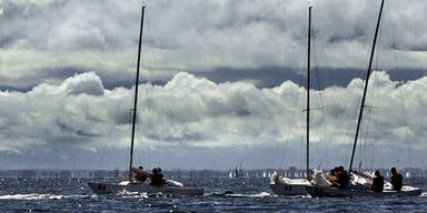
[[[378,30],[379,30],[379,26],[380,26],[380,21],[381,21],[383,7],[384,7],[384,0],[381,0],[381,6],[379,9],[379,14],[378,14],[378,20],[377,20],[377,27],[375,30],[374,43],[373,43],[373,48],[371,48],[371,52],[370,52],[370,60],[369,60],[369,65],[368,65],[367,74],[366,74],[364,95],[361,99],[359,118],[358,118],[358,122],[357,122],[355,142],[352,144],[350,166],[348,170],[351,174],[352,181],[345,189],[331,187],[330,185],[327,185],[325,183],[307,185],[306,190],[312,197],[318,197],[318,196],[328,196],[328,197],[369,196],[369,195],[371,195],[371,196],[389,196],[389,195],[420,195],[421,194],[421,190],[419,187],[414,187],[410,185],[403,185],[400,191],[395,191],[393,189],[393,185],[388,182],[385,182],[383,192],[373,192],[367,186],[367,185],[369,185],[369,183],[371,183],[373,178],[363,171],[354,171],[352,170],[352,160],[355,158],[357,139],[358,139],[358,134],[359,134],[359,130],[360,130],[360,123],[361,123],[361,119],[363,119],[363,114],[364,114],[366,93],[367,93],[369,77],[370,77],[370,72],[371,72],[373,59],[374,59],[374,53],[375,53],[375,44],[377,41]]]

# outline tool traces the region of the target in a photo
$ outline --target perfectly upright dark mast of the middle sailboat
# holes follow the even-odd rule
[[[307,50],[307,179],[309,179],[310,171],[310,41],[311,41],[311,8],[308,8],[308,50]]]

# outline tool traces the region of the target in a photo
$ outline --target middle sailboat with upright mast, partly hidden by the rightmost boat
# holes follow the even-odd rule
[[[309,136],[310,136],[310,41],[311,41],[311,8],[308,8],[308,57],[307,57],[307,110],[306,110],[306,179],[288,179],[280,176],[276,172],[270,176],[270,187],[278,195],[307,195],[308,192],[306,186],[310,186],[310,174],[309,168]]]

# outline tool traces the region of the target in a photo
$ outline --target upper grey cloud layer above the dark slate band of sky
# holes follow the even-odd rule
[[[364,68],[379,1],[311,2],[318,65]],[[1,1],[0,85],[58,83],[63,78],[49,78],[46,70],[56,75],[61,68],[96,70],[105,81],[129,80],[140,6],[137,0]],[[307,8],[306,1],[296,0],[148,1],[143,74],[146,79],[170,80],[177,70],[205,73],[218,68],[264,67],[301,72]],[[386,1],[379,42],[383,68],[426,67],[426,9],[423,0]],[[67,77],[72,74],[70,71]]]

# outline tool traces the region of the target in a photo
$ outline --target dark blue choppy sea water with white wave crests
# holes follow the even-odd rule
[[[277,196],[268,179],[178,180],[205,186],[202,196],[98,196],[87,186],[88,179],[0,181],[0,212],[427,212],[427,193],[406,197]],[[426,191],[427,180],[414,181],[414,185]]]

